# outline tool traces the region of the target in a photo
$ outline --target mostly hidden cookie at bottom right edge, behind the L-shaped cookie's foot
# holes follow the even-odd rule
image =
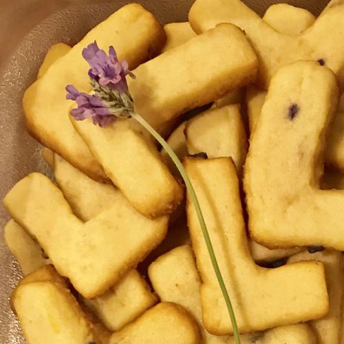
[[[327,290],[330,299],[330,311],[319,320],[310,321],[310,326],[318,337],[319,344],[338,344],[341,332],[341,310],[343,295],[343,270],[341,252],[323,250],[310,253],[301,252],[288,259],[288,263],[296,261],[319,260],[325,266]]]

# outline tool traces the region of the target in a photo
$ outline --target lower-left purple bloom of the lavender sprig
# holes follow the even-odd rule
[[[100,127],[107,127],[116,120],[116,117],[111,115],[109,108],[97,96],[78,92],[73,85],[68,85],[65,89],[68,92],[66,99],[75,100],[78,105],[77,109],[70,111],[76,120],[92,118],[94,125],[100,125]]]

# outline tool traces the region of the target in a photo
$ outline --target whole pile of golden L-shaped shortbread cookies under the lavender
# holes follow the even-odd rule
[[[235,343],[168,153],[133,120],[69,116],[65,86],[91,91],[94,41],[128,61],[136,112],[184,162],[241,343],[344,343],[343,37],[343,0],[317,19],[195,0],[188,23],[129,4],[54,45],[23,96],[54,181],[32,173],[3,200],[28,343]]]

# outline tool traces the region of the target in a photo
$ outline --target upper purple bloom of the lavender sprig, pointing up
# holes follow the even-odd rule
[[[89,76],[96,80],[100,86],[116,88],[120,93],[128,92],[128,85],[125,76],[128,74],[134,77],[128,70],[128,63],[125,60],[118,61],[114,47],[109,47],[109,55],[100,50],[97,42],[89,44],[83,50],[83,58],[89,63]]]

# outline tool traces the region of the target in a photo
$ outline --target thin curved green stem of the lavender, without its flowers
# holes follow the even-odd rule
[[[182,178],[186,185],[186,189],[189,191],[189,195],[195,206],[197,217],[198,217],[198,220],[200,221],[200,226],[202,228],[204,240],[206,241],[206,247],[208,248],[208,252],[211,257],[211,263],[213,264],[217,281],[219,281],[219,287],[221,288],[222,294],[224,295],[224,300],[226,301],[226,305],[227,305],[229,316],[230,316],[230,321],[232,321],[232,325],[233,325],[233,334],[235,336],[235,343],[240,344],[241,343],[240,335],[239,335],[239,330],[237,328],[237,321],[235,319],[233,306],[232,306],[232,303],[230,302],[230,298],[226,290],[226,285],[224,284],[224,279],[222,278],[221,271],[219,270],[219,264],[217,264],[217,259],[215,257],[213,244],[211,244],[211,238],[209,237],[209,233],[206,228],[206,222],[204,221],[204,217],[200,208],[200,203],[198,202],[195,189],[193,189],[193,185],[191,184],[191,180],[186,174],[186,171],[184,169],[182,162],[180,162],[178,156],[175,155],[175,152],[173,151],[173,149],[171,149],[171,147],[164,140],[164,138],[162,138],[162,136],[160,136],[159,133],[157,133],[157,131],[155,131],[155,129],[153,129],[153,127],[151,127],[151,125],[149,125],[149,123],[146,122],[146,120],[144,120],[144,118],[142,118],[140,115],[134,114],[133,118],[135,118],[144,128],[146,128],[149,131],[149,133],[151,133],[154,136],[156,140],[158,140],[158,142],[162,145],[165,151],[169,154],[169,156],[175,163],[175,166],[177,166],[178,170],[180,171],[180,174],[182,175]]]

